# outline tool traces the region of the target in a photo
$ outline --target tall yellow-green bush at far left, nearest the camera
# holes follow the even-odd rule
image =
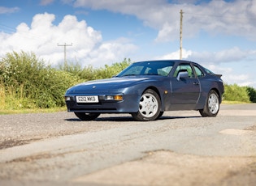
[[[0,61],[0,75],[4,108],[11,109],[63,106],[65,91],[78,82],[72,74],[46,66],[34,53],[24,52],[7,53]]]

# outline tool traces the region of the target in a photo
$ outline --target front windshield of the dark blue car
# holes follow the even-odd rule
[[[117,77],[131,76],[131,75],[161,75],[167,76],[174,61],[143,61],[133,63],[125,70],[120,72]]]

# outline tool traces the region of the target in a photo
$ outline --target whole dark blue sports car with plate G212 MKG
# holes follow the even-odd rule
[[[134,62],[112,78],[67,89],[67,111],[80,120],[102,113],[130,113],[134,120],[157,120],[166,111],[197,110],[217,116],[224,92],[220,74],[184,60]]]

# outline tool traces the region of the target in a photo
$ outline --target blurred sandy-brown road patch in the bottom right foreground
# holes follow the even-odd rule
[[[254,185],[255,165],[255,157],[209,157],[156,151],[143,159],[73,181],[106,185]]]

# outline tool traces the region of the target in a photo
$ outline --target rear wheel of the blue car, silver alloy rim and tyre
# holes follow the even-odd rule
[[[202,110],[199,110],[203,117],[215,117],[219,112],[219,95],[216,91],[211,90],[206,99],[206,105]]]

